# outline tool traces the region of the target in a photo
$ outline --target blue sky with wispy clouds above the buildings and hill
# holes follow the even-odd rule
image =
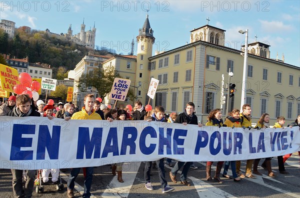
[[[154,50],[166,51],[189,42],[190,30],[207,23],[226,30],[225,46],[240,49],[248,29],[248,42],[270,46],[271,58],[300,65],[299,0],[0,0],[0,19],[12,20],[16,26],[54,33],[66,33],[72,24],[73,34],[95,22],[95,45],[130,52],[147,11],[154,30]],[[135,46],[136,47],[136,46]],[[134,50],[136,54],[136,49]]]

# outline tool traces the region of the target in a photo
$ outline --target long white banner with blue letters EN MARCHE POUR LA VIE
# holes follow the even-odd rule
[[[0,168],[95,167],[116,162],[232,161],[300,151],[299,127],[198,127],[147,121],[0,117]]]

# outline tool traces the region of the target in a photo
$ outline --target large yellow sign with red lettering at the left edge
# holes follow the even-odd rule
[[[0,64],[0,80],[3,90],[13,92],[13,86],[20,84],[18,81],[18,72],[16,69]]]

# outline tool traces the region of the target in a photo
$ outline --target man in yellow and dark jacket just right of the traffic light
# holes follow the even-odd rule
[[[241,127],[243,129],[248,128],[250,130],[251,128],[251,106],[249,104],[244,104],[242,106],[242,112],[239,114],[239,117],[241,119]],[[246,174],[245,176],[241,174],[240,172],[240,161],[236,161],[236,172],[238,173],[240,178],[256,178],[252,175],[252,165],[253,160],[247,160],[246,163]]]

